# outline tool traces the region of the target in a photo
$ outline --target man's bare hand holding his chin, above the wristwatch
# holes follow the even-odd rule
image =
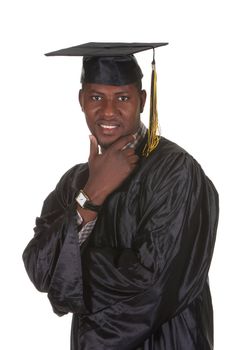
[[[135,169],[139,160],[135,150],[123,149],[133,141],[133,135],[124,136],[99,154],[97,140],[90,136],[89,178],[84,191],[94,204],[101,205]]]

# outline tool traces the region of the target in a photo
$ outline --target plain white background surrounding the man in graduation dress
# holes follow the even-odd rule
[[[81,59],[43,53],[88,41],[170,43],[156,51],[162,135],[201,163],[220,194],[210,271],[215,349],[232,347],[232,32],[230,0],[1,2],[1,349],[69,349],[71,316],[52,313],[21,254],[43,199],[89,148],[77,98]],[[149,90],[152,55],[137,58]],[[146,124],[147,116],[148,108]]]

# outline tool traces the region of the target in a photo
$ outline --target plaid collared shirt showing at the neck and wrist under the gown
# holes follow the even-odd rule
[[[145,137],[146,135],[146,132],[147,132],[147,128],[145,127],[145,125],[142,123],[142,121],[140,121],[140,125],[139,125],[139,128],[137,130],[137,132],[133,135],[134,136],[134,141],[133,142],[130,142],[128,143],[127,145],[125,145],[123,147],[123,150],[126,149],[126,148],[136,148],[136,146],[140,143],[140,141]],[[80,226],[82,223],[83,223],[83,218],[82,216],[80,215],[80,213],[78,212],[77,210],[77,222],[78,222],[78,226]],[[86,239],[87,237],[91,234],[94,226],[95,226],[95,223],[96,223],[96,220],[92,220],[92,221],[89,221],[86,225],[83,226],[83,228],[78,232],[78,240],[79,240],[79,244],[81,245]]]

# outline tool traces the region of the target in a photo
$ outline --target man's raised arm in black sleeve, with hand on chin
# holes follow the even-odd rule
[[[88,180],[88,194],[102,204],[107,195],[116,188],[135,168],[138,157],[134,151],[121,149],[133,136],[123,137],[104,155],[98,154],[96,139],[91,142],[89,179],[77,176],[75,192]],[[93,170],[94,164],[94,170]],[[106,164],[110,171],[105,171]],[[121,171],[119,171],[121,169]],[[76,171],[79,173],[79,169]],[[74,174],[73,174],[74,175]],[[35,287],[48,292],[58,315],[83,310],[82,271],[78,244],[77,203],[71,190],[70,172],[63,176],[57,188],[45,200],[42,213],[36,220],[35,236],[23,253],[25,268]],[[110,186],[107,179],[110,179]],[[98,186],[95,186],[95,183]],[[96,218],[96,213],[78,208],[84,226]],[[80,228],[79,228],[80,229]],[[62,288],[60,288],[62,284]]]

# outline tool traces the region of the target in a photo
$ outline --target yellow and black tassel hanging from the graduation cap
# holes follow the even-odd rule
[[[149,154],[159,144],[158,135],[158,111],[157,111],[157,75],[155,69],[155,57],[153,50],[152,74],[151,74],[151,95],[150,95],[150,121],[148,128],[148,140],[143,149],[143,156],[148,157]]]

